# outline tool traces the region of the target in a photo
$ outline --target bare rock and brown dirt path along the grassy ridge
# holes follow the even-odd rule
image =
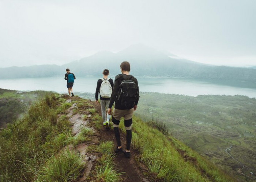
[[[79,100],[81,98],[71,98],[67,99],[66,102],[71,103],[72,100]],[[91,105],[95,107],[98,114],[101,115],[101,106],[99,103],[95,103],[93,101],[88,101]],[[77,109],[77,104],[73,103],[72,106],[67,111],[67,117],[69,118],[69,122],[72,124],[72,134],[74,136],[79,135],[81,132],[81,126],[89,127],[89,123],[91,120],[91,114],[86,111],[73,113],[73,111]],[[87,115],[87,120],[83,119],[83,115]],[[120,123],[124,124],[124,123]],[[81,143],[79,145],[74,146],[68,146],[69,148],[72,148],[76,152],[80,153],[82,156],[84,162],[86,163],[86,169],[84,170],[82,177],[78,180],[79,182],[85,182],[88,181],[87,177],[90,175],[90,172],[92,169],[94,169],[95,163],[97,159],[100,157],[97,154],[89,154],[87,152],[88,146],[90,145],[99,145],[101,141],[113,141],[116,146],[116,140],[114,138],[114,132],[113,129],[106,130],[105,126],[102,125],[102,127],[97,130],[93,129],[94,135],[91,137],[91,140],[88,142]],[[126,137],[125,134],[120,132],[121,135],[121,143],[125,149],[126,145]],[[124,172],[122,175],[123,181],[127,182],[149,182],[143,175],[143,165],[140,162],[137,162],[135,159],[135,156],[138,156],[139,154],[133,151],[131,147],[131,158],[127,159],[124,157],[124,154],[114,154],[113,149],[113,155],[114,157],[114,163],[116,165],[116,169],[119,173]]]

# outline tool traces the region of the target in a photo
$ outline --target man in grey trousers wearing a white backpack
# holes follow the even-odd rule
[[[110,96],[112,94],[114,82],[113,79],[108,78],[109,70],[105,69],[102,72],[103,78],[98,79],[97,81],[97,87],[95,92],[95,100],[96,103],[98,102],[98,95],[100,94],[100,103],[101,103],[101,115],[103,119],[103,125],[106,125],[106,129],[109,129],[109,120],[110,115],[107,114],[106,116],[106,108],[109,106]]]

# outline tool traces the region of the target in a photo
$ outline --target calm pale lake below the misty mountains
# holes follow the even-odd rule
[[[75,80],[74,92],[95,93],[97,80],[95,76],[80,77]],[[248,85],[226,86],[223,83],[210,83],[196,79],[180,78],[137,78],[139,89],[143,92],[165,94],[197,95],[246,95],[256,97],[256,87]],[[47,90],[66,93],[67,81],[63,77],[0,79],[0,88],[20,91]]]

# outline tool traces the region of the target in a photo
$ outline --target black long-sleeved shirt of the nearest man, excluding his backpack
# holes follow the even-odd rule
[[[125,75],[125,74],[116,75],[115,82],[114,82],[114,88],[113,88],[111,98],[110,98],[109,108],[112,108],[114,102],[116,102],[116,104],[115,104],[116,109],[120,109],[120,110],[131,109],[131,108],[122,106],[120,100],[118,101],[116,97],[117,97],[117,92],[118,92],[119,85],[121,84],[121,82],[123,80],[131,80],[132,77],[133,77],[132,75]],[[135,77],[133,77],[133,80],[138,85],[138,80]],[[138,102],[139,102],[139,98],[137,100],[135,100],[135,105],[137,105]]]

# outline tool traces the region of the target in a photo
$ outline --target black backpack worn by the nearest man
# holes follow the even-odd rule
[[[134,77],[132,76],[131,80],[123,80],[117,92],[117,100],[121,103],[121,106],[132,108],[138,98],[139,86],[134,82]]]

